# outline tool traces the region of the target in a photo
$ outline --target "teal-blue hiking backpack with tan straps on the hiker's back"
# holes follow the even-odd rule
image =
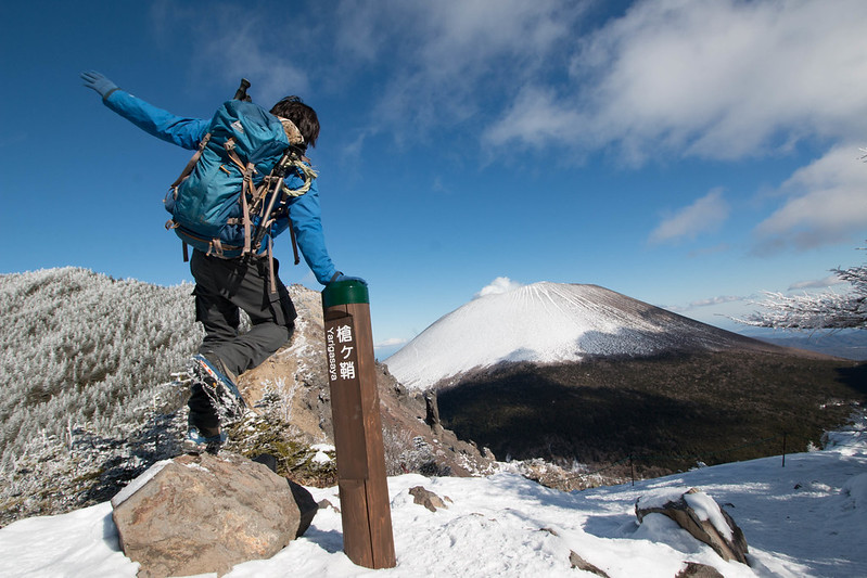
[[[305,163],[297,127],[250,102],[245,88],[242,82],[235,100],[217,110],[199,150],[171,184],[166,228],[183,241],[184,260],[188,245],[222,258],[256,255],[267,237],[271,261],[271,239],[288,228],[297,265],[286,201],[306,193],[316,172]],[[293,175],[302,181],[297,189],[285,184]]]

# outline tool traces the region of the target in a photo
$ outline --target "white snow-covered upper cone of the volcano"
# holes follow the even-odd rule
[[[777,349],[598,285],[540,282],[473,299],[442,317],[385,363],[404,385],[425,389],[500,362],[730,347]]]

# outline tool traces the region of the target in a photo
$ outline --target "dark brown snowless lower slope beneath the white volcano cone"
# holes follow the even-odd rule
[[[867,400],[867,364],[748,347],[501,365],[439,393],[444,423],[502,458],[656,473],[819,446]],[[661,470],[659,470],[661,468]]]

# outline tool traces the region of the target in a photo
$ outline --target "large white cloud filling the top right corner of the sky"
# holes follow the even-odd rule
[[[806,137],[864,134],[865,29],[859,0],[638,2],[576,44],[557,94],[521,92],[485,139],[615,145],[640,164],[660,153],[734,159]]]

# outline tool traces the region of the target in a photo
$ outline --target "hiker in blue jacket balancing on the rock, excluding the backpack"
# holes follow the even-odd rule
[[[157,108],[119,89],[97,72],[82,73],[81,79],[85,87],[102,97],[105,106],[154,137],[184,149],[199,150],[208,134],[209,118],[186,118]],[[308,145],[316,145],[319,120],[316,112],[301,99],[286,97],[275,104],[270,113],[283,124],[288,137],[290,128],[295,136],[301,133],[303,152]],[[306,156],[303,158],[309,167]],[[239,189],[239,196],[240,193]],[[294,239],[317,281],[322,285],[344,280],[364,283],[359,278],[343,275],[331,261],[322,233],[315,178],[309,190],[291,197],[288,205]],[[280,224],[278,221],[278,231]],[[288,226],[284,218],[282,227]],[[279,262],[272,257],[266,258],[263,253],[226,258],[212,255],[209,249],[205,253],[194,248],[190,270],[195,279],[195,318],[204,325],[205,337],[199,355],[191,359],[193,378],[183,446],[190,452],[216,453],[226,441],[226,434],[220,428],[221,406],[224,413],[226,408],[229,409],[230,415],[237,415],[244,408],[237,386],[238,376],[265,361],[289,341],[296,312],[278,275]],[[241,309],[252,322],[252,329],[243,334],[239,333]],[[220,397],[225,398],[227,394],[229,403],[224,403]]]

